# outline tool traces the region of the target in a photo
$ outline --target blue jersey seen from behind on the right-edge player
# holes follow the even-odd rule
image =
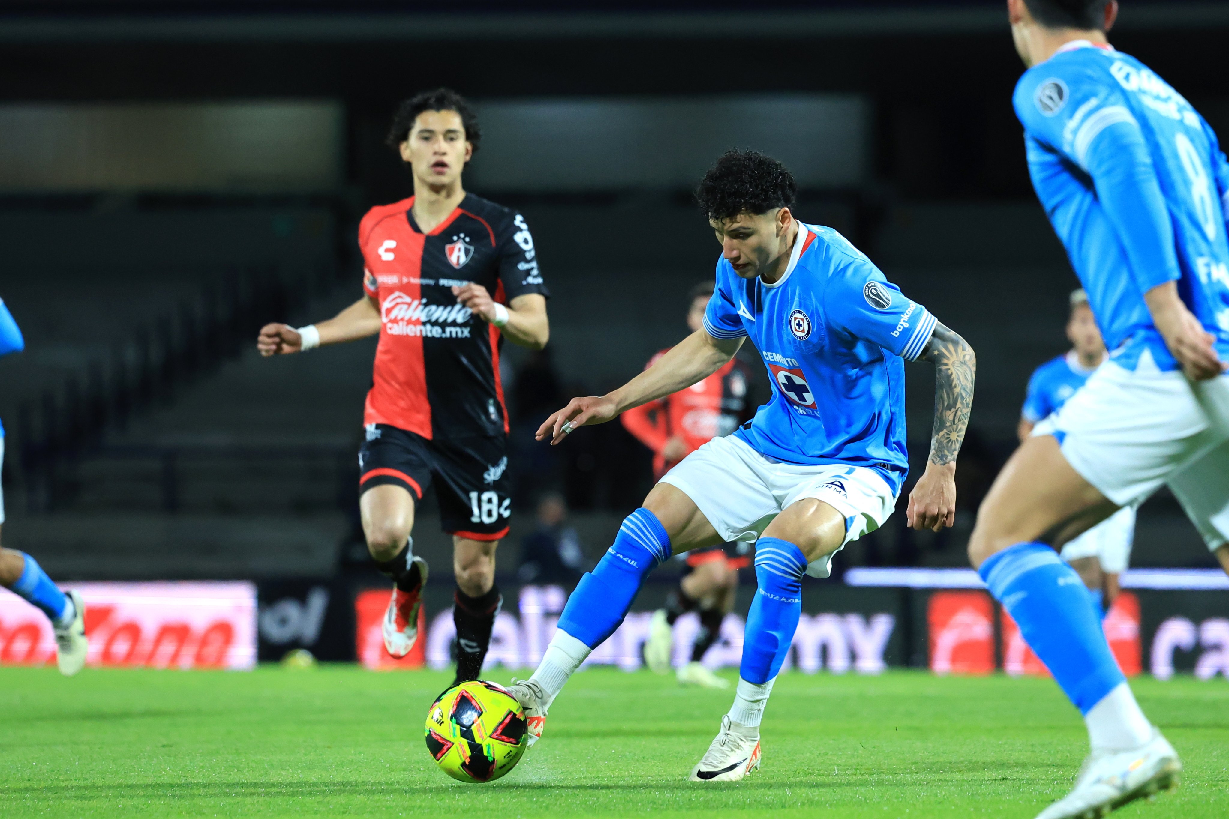
[[[1229,357],[1229,166],[1215,134],[1133,56],[1086,41],[1025,71],[1013,99],[1037,198],[1112,359],[1177,363],[1143,293],[1176,281]]]

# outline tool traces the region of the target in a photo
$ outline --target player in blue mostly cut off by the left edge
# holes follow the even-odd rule
[[[26,340],[12,313],[0,300],[0,356],[21,352]],[[0,425],[0,464],[4,463],[4,426]],[[0,487],[0,526],[4,524],[4,489]],[[0,586],[37,607],[52,621],[55,632],[55,661],[60,673],[71,677],[85,666],[85,604],[76,592],[57,588],[47,572],[29,555],[0,546]]]

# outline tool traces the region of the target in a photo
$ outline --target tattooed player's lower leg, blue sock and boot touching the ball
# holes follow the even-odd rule
[[[568,598],[537,670],[509,688],[525,708],[531,745],[541,738],[547,708],[568,678],[614,634],[644,578],[669,557],[670,535],[658,516],[644,507],[627,516],[614,544]]]

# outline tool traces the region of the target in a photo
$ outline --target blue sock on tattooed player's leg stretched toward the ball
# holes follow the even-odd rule
[[[559,629],[590,648],[601,645],[623,623],[648,573],[669,559],[670,535],[658,516],[644,507],[632,512],[614,544],[568,598]]]

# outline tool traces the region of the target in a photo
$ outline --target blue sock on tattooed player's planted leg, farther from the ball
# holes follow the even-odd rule
[[[806,556],[801,549],[780,538],[756,541],[756,589],[747,629],[742,637],[742,664],[739,677],[763,685],[777,677],[798,631],[803,614],[803,573]]]

